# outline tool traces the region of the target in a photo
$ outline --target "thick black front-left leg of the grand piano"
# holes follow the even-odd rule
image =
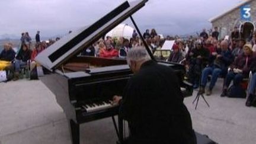
[[[75,123],[73,120],[69,120],[69,132],[71,132],[71,140],[73,144],[79,144],[80,142],[80,133],[79,133],[79,124]]]

